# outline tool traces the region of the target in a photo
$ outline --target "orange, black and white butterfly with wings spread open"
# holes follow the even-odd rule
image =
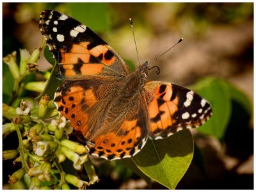
[[[147,61],[130,72],[117,52],[79,21],[44,10],[39,26],[63,79],[54,101],[90,154],[110,160],[131,157],[147,138],[199,127],[211,116],[209,102],[197,93],[148,82]]]

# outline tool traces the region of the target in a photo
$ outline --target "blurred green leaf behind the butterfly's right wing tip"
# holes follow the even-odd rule
[[[193,86],[196,93],[207,99],[212,106],[211,118],[198,131],[222,140],[231,114],[231,97],[227,83],[208,77]]]

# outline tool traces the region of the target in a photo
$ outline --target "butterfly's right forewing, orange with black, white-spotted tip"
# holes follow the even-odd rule
[[[209,102],[197,93],[176,84],[150,81],[148,96],[148,135],[152,140],[204,124],[212,115]]]

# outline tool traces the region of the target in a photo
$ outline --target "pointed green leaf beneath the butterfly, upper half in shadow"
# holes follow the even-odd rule
[[[173,134],[164,140],[149,140],[136,156],[132,157],[141,172],[175,189],[193,158],[194,143],[189,130]]]

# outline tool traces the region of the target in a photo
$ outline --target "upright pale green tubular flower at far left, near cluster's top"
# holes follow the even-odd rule
[[[8,54],[3,58],[4,63],[9,67],[9,70],[14,79],[18,79],[20,76],[19,67],[16,61],[17,51],[13,51],[12,54]]]

